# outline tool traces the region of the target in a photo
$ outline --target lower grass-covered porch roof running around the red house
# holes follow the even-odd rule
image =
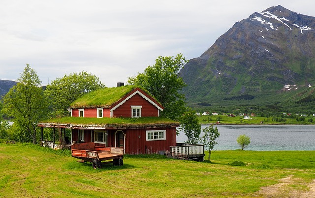
[[[63,117],[45,120],[37,124],[39,127],[61,127],[72,129],[139,129],[178,127],[179,122],[161,117],[141,118],[84,118]]]

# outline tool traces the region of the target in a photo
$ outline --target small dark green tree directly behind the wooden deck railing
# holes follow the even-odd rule
[[[179,130],[183,131],[188,138],[185,142],[188,144],[197,144],[201,133],[201,124],[199,124],[196,112],[189,110],[188,112],[185,112],[179,120]]]

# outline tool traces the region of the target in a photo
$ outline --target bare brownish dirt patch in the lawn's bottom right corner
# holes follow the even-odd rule
[[[304,190],[303,185],[306,186]],[[258,191],[259,195],[264,198],[314,198],[315,197],[315,180],[311,183],[305,183],[293,175],[289,175],[279,180],[279,183],[262,187]]]

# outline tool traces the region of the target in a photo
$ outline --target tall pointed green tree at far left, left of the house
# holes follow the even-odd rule
[[[37,122],[47,115],[47,100],[44,97],[37,72],[26,64],[18,83],[3,98],[3,112],[13,118],[14,124],[23,133],[20,141],[37,142]]]

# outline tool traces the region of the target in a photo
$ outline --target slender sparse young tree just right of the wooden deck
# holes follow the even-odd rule
[[[218,144],[218,138],[220,137],[220,132],[217,127],[213,127],[213,125],[202,129],[204,135],[201,137],[201,142],[205,145],[206,150],[209,152],[208,160],[210,161],[211,151],[214,146]]]

